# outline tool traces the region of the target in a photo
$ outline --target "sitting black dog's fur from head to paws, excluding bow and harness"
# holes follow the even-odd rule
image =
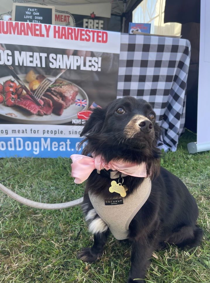
[[[128,282],[145,282],[149,258],[154,250],[164,248],[165,243],[181,248],[194,247],[202,239],[202,229],[196,225],[198,208],[194,198],[179,178],[160,168],[161,152],[156,148],[159,131],[149,103],[124,97],[103,109],[94,109],[81,133],[87,141],[83,155],[94,153],[94,156],[102,156],[106,163],[118,159],[134,164],[146,163],[147,175],[152,179],[151,193],[129,225],[132,254]],[[118,199],[117,192],[109,192],[110,171],[94,170],[87,179],[83,211],[89,230],[94,233],[94,244],[78,253],[78,258],[83,261],[93,262],[102,255],[109,234],[107,224],[90,202],[89,193],[104,200],[110,196]],[[134,194],[144,178],[128,175],[123,180],[128,197]],[[138,279],[133,280],[135,278]]]

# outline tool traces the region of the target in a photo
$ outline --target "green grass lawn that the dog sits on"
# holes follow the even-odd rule
[[[155,252],[147,282],[210,282],[210,152],[188,154],[187,143],[195,140],[194,134],[185,132],[178,150],[164,154],[162,165],[180,177],[196,198],[204,240],[192,250],[169,246]],[[36,201],[74,200],[84,188],[73,183],[70,163],[67,158],[0,159],[0,182]],[[127,281],[131,250],[127,241],[109,236],[103,256],[92,264],[76,258],[82,246],[91,246],[93,240],[79,206],[32,209],[3,193],[0,204],[0,283]]]

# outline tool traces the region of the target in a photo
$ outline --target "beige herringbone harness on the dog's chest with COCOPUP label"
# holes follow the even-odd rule
[[[111,176],[111,178],[113,177],[118,178],[114,175]],[[122,177],[124,176],[122,175]],[[108,200],[90,192],[89,198],[97,214],[106,222],[113,236],[118,240],[123,240],[128,238],[129,224],[147,201],[150,192],[151,180],[147,177],[132,194],[123,198],[120,196],[114,198],[111,192]],[[108,201],[109,203],[107,203]]]

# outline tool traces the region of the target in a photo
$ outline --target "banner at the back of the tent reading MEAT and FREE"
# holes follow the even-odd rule
[[[76,26],[81,28],[90,28],[98,30],[107,30],[109,18],[111,17],[111,3],[96,3],[96,4],[73,4],[68,1],[54,0],[1,0],[0,1],[0,20],[3,20],[4,15],[12,15],[13,3],[24,4],[41,4],[43,6],[55,7],[55,24],[65,26]],[[33,14],[30,7],[25,14],[25,19],[28,22],[42,23],[42,15]],[[35,17],[35,19],[34,19]],[[30,20],[30,18],[32,20]],[[25,20],[24,20],[25,21]]]

